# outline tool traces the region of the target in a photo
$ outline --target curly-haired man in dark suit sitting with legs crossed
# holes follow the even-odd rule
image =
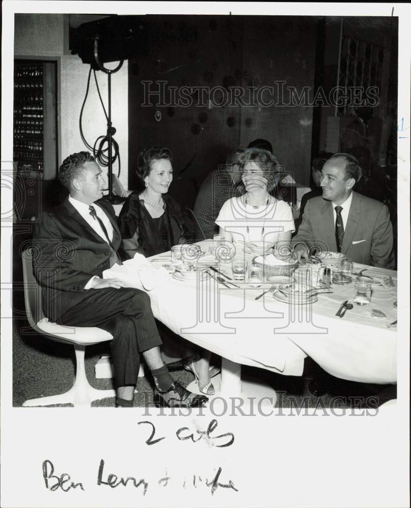
[[[114,209],[104,200],[101,169],[88,152],[62,163],[58,178],[70,196],[44,212],[34,232],[33,270],[42,287],[45,315],[61,325],[97,326],[113,335],[110,343],[117,387],[116,405],[131,407],[143,355],[155,393],[168,406],[202,405],[207,398],[188,392],[164,364],[161,338],[146,293],[103,279],[121,264]]]

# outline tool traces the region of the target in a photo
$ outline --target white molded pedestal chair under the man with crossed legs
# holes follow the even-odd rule
[[[22,252],[23,281],[24,281],[24,303],[27,313],[27,320],[31,328],[57,342],[73,344],[76,353],[76,373],[73,387],[66,393],[39,397],[23,402],[23,406],[48,406],[50,404],[73,404],[78,406],[90,406],[93,400],[115,397],[115,390],[97,390],[87,380],[84,366],[85,347],[91,344],[98,344],[111,340],[111,333],[97,327],[69,327],[50,323],[44,317],[41,304],[41,287],[38,285],[34,275],[31,248]]]

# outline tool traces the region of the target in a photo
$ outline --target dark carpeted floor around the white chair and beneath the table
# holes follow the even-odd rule
[[[94,366],[102,355],[109,354],[109,343],[88,346],[85,353],[85,368],[89,383],[98,389],[114,388],[112,379],[96,379]],[[218,362],[218,359],[214,359]],[[309,358],[305,361],[301,377],[282,376],[264,369],[244,366],[243,375],[263,380],[277,393],[279,407],[358,407],[367,404],[373,397],[372,405],[396,397],[392,385],[369,385],[346,382],[332,378],[329,393],[321,398],[311,395],[308,383],[315,372],[315,364]],[[147,369],[146,369],[147,371]],[[74,350],[71,345],[54,342],[31,331],[24,319],[13,323],[13,405],[21,406],[31,398],[63,393],[73,384],[75,373]],[[190,372],[180,369],[173,376],[186,386],[193,380]],[[140,377],[134,406],[145,406],[153,400],[153,384],[150,375]],[[377,402],[375,402],[377,397]],[[114,397],[93,402],[94,406],[114,407]]]

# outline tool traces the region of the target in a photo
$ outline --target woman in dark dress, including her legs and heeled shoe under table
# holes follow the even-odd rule
[[[158,146],[139,153],[137,175],[144,182],[145,189],[128,197],[118,217],[122,246],[131,258],[136,252],[146,257],[154,256],[170,250],[173,245],[193,239],[193,232],[184,225],[180,207],[171,196],[165,196],[173,179],[171,159],[170,150]],[[164,354],[174,356],[176,350],[177,354],[181,353],[178,351],[181,337],[161,323],[158,325],[163,336]],[[185,368],[196,376],[201,392],[213,395],[215,391],[210,375],[217,374],[219,369],[210,368],[211,353],[195,351],[188,342],[184,349],[189,356],[201,356]]]

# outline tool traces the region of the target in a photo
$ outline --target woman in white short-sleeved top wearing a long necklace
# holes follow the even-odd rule
[[[293,212],[286,202],[270,195],[277,182],[276,164],[276,158],[267,150],[244,151],[241,169],[246,193],[226,201],[215,220],[228,240],[264,240],[278,249],[288,249],[295,229]]]

